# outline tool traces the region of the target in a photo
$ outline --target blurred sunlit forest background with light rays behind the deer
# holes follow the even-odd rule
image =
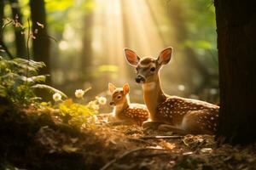
[[[142,87],[134,80],[135,69],[126,63],[123,48],[156,58],[163,48],[172,46],[172,62],[161,71],[166,94],[218,104],[217,36],[211,0],[1,3],[2,19],[18,20],[37,31],[36,39],[29,43],[32,59],[46,63],[42,72],[51,75],[48,83],[66,94],[92,87],[88,99],[108,96],[108,82],[116,86],[129,82],[131,101],[143,102]],[[1,20],[1,26],[6,22]],[[20,28],[5,26],[0,55],[26,59],[26,38]]]

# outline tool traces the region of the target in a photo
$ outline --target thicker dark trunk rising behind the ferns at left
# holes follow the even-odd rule
[[[49,37],[47,32],[44,0],[30,0],[30,8],[32,16],[32,31],[38,31],[38,33],[35,34],[36,39],[33,39],[33,57],[37,61],[43,61],[46,65],[40,73],[49,74]],[[44,25],[44,28],[39,26],[40,24]],[[49,79],[47,83],[50,83]]]

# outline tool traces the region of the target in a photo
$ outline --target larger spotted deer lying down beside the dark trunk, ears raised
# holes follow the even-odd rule
[[[182,134],[212,134],[216,131],[218,105],[163,93],[159,72],[172,58],[171,47],[164,49],[158,59],[140,59],[129,48],[125,48],[125,57],[136,67],[136,82],[143,84],[144,102],[150,115],[150,121],[144,122],[143,127],[158,126]]]

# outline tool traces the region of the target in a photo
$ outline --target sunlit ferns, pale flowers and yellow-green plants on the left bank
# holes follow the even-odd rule
[[[7,100],[10,105],[20,110],[38,110],[45,113],[54,113],[54,116],[61,122],[79,129],[93,127],[95,115],[98,113],[100,105],[106,104],[106,99],[104,97],[96,97],[96,99],[85,104],[84,94],[90,90],[90,88],[87,88],[75,91],[78,102],[74,102],[61,90],[45,84],[46,78],[50,75],[40,75],[39,70],[47,65],[44,62],[32,60],[29,53],[29,41],[31,38],[37,38],[37,31],[31,31],[29,20],[27,20],[28,27],[22,26],[17,17],[14,20],[4,20],[5,24],[2,29],[13,25],[19,27],[21,33],[26,35],[27,59],[16,57],[6,59],[0,56],[0,98]],[[41,29],[44,29],[44,26],[41,26]],[[45,101],[45,99],[39,97],[36,93],[38,88],[52,94],[53,100]]]

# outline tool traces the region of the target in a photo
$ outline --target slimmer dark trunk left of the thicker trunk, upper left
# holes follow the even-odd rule
[[[20,7],[17,0],[9,0],[11,5],[12,14],[14,20],[18,20],[22,25],[22,14],[20,13]],[[20,58],[26,58],[26,42],[24,35],[21,34],[20,28],[15,28],[15,47],[16,56]]]

